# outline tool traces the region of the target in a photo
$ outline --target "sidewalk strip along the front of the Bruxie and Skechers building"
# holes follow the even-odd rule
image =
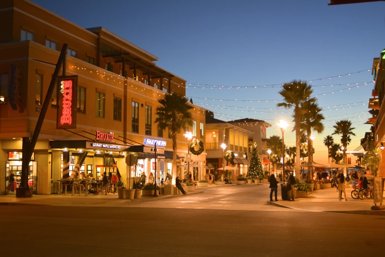
[[[188,192],[190,194],[203,193],[201,190],[195,190],[193,192]],[[153,196],[142,196],[139,199],[126,200],[118,199],[118,193],[108,195],[58,195],[58,194],[34,194],[31,198],[16,198],[15,194],[2,195],[0,196],[0,205],[2,204],[29,204],[29,205],[96,205],[96,204],[127,204],[127,203],[139,203],[147,201],[156,201],[165,198],[171,197],[180,197],[183,194],[170,194],[170,195],[159,195],[158,197]]]

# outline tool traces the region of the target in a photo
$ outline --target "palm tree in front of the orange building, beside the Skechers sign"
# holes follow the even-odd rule
[[[161,106],[156,107],[155,123],[158,123],[160,129],[169,129],[169,135],[173,140],[173,177],[177,177],[177,134],[180,129],[193,126],[192,114],[193,108],[186,97],[180,94],[166,94],[158,102]]]

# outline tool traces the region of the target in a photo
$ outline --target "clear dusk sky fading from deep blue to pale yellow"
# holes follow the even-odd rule
[[[279,85],[307,81],[326,117],[325,131],[315,133],[314,161],[327,163],[323,139],[336,120],[355,126],[348,151],[370,129],[364,123],[374,86],[371,68],[385,48],[385,19],[378,12],[383,1],[32,1],[81,27],[102,26],[157,56],[158,66],[187,80],[186,96],[218,119],[265,120],[272,125],[267,137],[280,135],[275,124],[285,119],[291,125],[287,146],[295,146],[295,133],[289,110],[276,107]],[[339,143],[340,136],[333,138]]]

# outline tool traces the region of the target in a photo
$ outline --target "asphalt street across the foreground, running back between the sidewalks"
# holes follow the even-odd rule
[[[352,256],[383,249],[383,216],[264,205],[267,193],[266,185],[233,186],[129,208],[1,205],[1,256]],[[252,206],[260,210],[246,210]]]

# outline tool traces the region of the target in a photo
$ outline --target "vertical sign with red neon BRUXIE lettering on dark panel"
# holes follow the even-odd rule
[[[58,77],[57,128],[76,128],[78,76]]]

